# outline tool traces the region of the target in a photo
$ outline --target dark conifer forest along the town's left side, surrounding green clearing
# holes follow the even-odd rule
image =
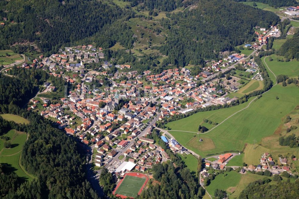
[[[18,77],[0,77],[1,111],[20,115],[30,124],[7,122],[0,117],[0,135],[10,129],[29,134],[21,163],[35,178],[24,182],[13,168],[1,164],[0,198],[98,198],[86,180],[85,154],[76,140],[36,112],[21,109],[32,94],[33,83],[47,76],[42,70],[12,71]]]

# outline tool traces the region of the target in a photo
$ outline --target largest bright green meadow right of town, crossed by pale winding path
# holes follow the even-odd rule
[[[279,100],[275,99],[276,96],[279,97]],[[298,102],[299,92],[295,85],[288,85],[287,87],[276,85],[269,92],[263,94],[262,98],[252,102],[247,109],[230,117],[207,134],[200,134],[203,140],[205,138],[212,139],[216,146],[216,148],[207,151],[202,151],[199,147],[195,148],[188,144],[197,134],[181,131],[197,132],[198,125],[202,123],[204,117],[220,123],[234,112],[244,108],[248,102],[228,109],[199,112],[182,120],[168,123],[167,126],[171,130],[180,130],[169,132],[179,143],[199,155],[207,156],[227,150],[237,151],[242,150],[245,143],[253,143],[253,140],[259,142],[262,138],[273,134],[282,123],[281,118],[291,112]],[[208,125],[207,127],[209,128]]]

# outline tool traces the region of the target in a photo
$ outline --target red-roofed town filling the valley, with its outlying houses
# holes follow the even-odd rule
[[[279,36],[280,32],[276,26],[270,30],[255,29],[259,30],[257,42],[243,46],[252,50],[250,55],[233,53],[223,60],[206,61],[199,74],[190,68],[168,69],[159,74],[148,70],[138,74],[130,65],[115,64],[115,58],[105,60],[103,49],[93,45],[65,47],[49,57],[40,55],[32,64],[24,63],[21,67],[41,68],[72,86],[65,87],[64,97],[39,97],[39,94],[55,96],[57,93],[54,83],[45,82],[42,91],[30,100],[28,110],[38,111],[57,128],[76,137],[86,148],[86,160],[98,176],[103,167],[122,177],[132,171],[148,174],[153,165],[170,160],[170,154],[153,139],[153,131],[160,132],[159,139],[173,153],[198,157],[159,127],[173,115],[192,113],[211,105],[232,106],[238,100],[235,93],[244,86],[244,80],[263,81],[252,56],[269,37]],[[7,68],[4,72],[9,74],[10,70]],[[238,155],[240,153],[226,153],[206,158],[200,174],[202,186],[210,179],[208,170],[225,170],[229,160]],[[286,164],[287,160],[279,161]],[[273,174],[289,172],[288,166],[275,165],[266,152],[258,165],[231,168],[239,169],[242,174],[265,170]],[[119,195],[132,196],[130,193]]]

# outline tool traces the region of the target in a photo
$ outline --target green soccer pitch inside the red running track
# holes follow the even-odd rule
[[[115,195],[123,195],[128,197],[135,198],[138,195],[138,192],[144,185],[146,178],[145,177],[135,177],[126,175],[119,187],[115,191]]]

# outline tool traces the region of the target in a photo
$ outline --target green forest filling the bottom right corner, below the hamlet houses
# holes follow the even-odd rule
[[[299,181],[290,183],[289,179],[286,182],[278,182],[277,184],[268,183],[270,180],[265,178],[249,183],[239,195],[239,199],[248,198],[299,198]]]

